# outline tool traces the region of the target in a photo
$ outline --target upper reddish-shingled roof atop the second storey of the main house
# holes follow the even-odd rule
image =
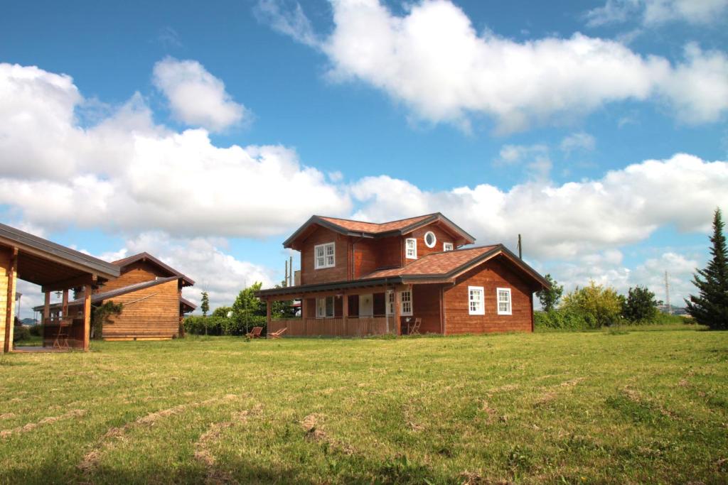
[[[288,239],[283,241],[283,247],[293,248],[296,241],[301,238],[305,238],[311,233],[313,225],[320,225],[321,227],[330,229],[344,236],[359,236],[369,238],[381,238],[389,236],[403,236],[411,233],[412,231],[429,225],[432,223],[442,223],[453,233],[460,236],[462,241],[460,244],[472,244],[475,242],[475,238],[469,233],[460,228],[454,222],[449,220],[440,212],[433,214],[419,215],[416,217],[408,217],[406,219],[392,220],[387,223],[367,223],[360,220],[350,219],[339,219],[338,217],[325,217],[320,215],[314,215],[309,220],[301,225]]]

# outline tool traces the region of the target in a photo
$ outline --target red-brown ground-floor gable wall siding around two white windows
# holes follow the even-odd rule
[[[531,332],[532,292],[513,263],[496,257],[457,278],[455,286],[444,286],[445,333]],[[470,315],[468,286],[483,286],[485,315]],[[512,315],[499,315],[497,288],[510,288]],[[415,308],[417,300],[414,302]]]

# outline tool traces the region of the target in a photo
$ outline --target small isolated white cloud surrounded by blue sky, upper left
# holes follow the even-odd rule
[[[166,57],[154,65],[154,86],[167,97],[178,121],[220,132],[250,116],[196,60]]]

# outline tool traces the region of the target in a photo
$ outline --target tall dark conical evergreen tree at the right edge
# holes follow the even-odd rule
[[[703,270],[697,270],[693,284],[698,295],[685,300],[687,313],[699,324],[713,330],[728,329],[728,246],[723,233],[724,223],[721,209],[713,216],[711,236],[711,261]]]

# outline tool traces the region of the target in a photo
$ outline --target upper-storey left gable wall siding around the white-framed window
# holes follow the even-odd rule
[[[336,265],[314,269],[314,246],[336,243]],[[327,283],[349,279],[349,239],[326,228],[317,228],[301,246],[301,284]]]

